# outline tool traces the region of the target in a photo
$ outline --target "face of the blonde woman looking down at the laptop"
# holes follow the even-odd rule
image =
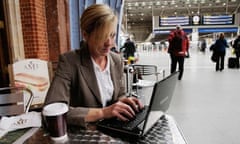
[[[85,40],[88,44],[90,54],[94,57],[107,56],[111,48],[115,44],[115,36],[116,31],[114,28],[110,28],[110,31],[108,32],[108,34],[106,34],[106,36],[102,34],[102,37],[104,38],[101,37],[101,33],[97,34],[96,32],[93,32],[87,34]]]

